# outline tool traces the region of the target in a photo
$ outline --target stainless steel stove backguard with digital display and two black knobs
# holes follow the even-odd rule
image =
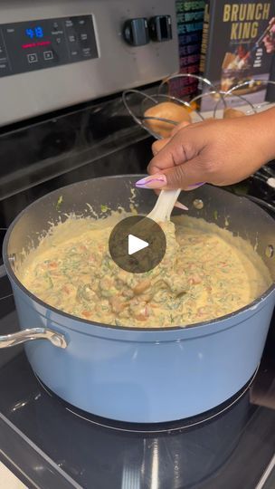
[[[171,0],[0,1],[0,128],[178,70]]]

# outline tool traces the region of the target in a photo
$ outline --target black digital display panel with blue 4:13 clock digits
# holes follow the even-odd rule
[[[91,15],[0,25],[0,77],[98,57]]]

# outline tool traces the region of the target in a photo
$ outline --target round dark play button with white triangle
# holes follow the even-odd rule
[[[129,216],[112,229],[109,254],[126,272],[149,272],[166,254],[166,235],[152,219]]]

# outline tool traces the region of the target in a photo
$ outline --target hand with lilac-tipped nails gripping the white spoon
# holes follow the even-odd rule
[[[204,182],[231,185],[275,158],[274,134],[275,109],[234,120],[184,123],[171,138],[153,144],[150,176],[136,185],[185,190]]]

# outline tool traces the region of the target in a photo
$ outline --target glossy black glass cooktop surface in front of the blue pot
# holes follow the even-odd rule
[[[5,334],[18,329],[6,277],[0,293]],[[251,386],[228,405],[149,427],[65,405],[35,378],[23,348],[1,350],[1,458],[30,488],[254,489],[275,451],[273,348]]]

